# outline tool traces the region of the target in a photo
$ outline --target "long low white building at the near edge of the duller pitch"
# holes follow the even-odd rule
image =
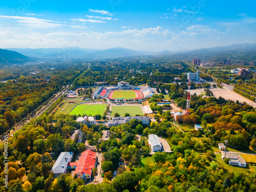
[[[141,120],[143,125],[150,125],[151,119],[148,116],[136,116],[136,117],[114,117],[111,121],[109,121],[109,127],[118,126],[124,123],[129,122],[132,119]]]

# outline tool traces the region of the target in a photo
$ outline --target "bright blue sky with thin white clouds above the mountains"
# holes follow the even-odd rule
[[[0,48],[178,51],[256,41],[255,1],[12,0]]]

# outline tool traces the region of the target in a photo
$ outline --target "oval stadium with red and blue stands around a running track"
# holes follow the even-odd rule
[[[130,86],[128,82],[118,82],[118,86],[99,87],[93,97],[106,98],[110,102],[142,102],[147,97],[152,97],[152,89],[147,87]]]

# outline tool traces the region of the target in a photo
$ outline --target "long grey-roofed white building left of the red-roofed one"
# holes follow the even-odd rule
[[[73,158],[73,152],[61,152],[58,159],[52,167],[52,172],[54,178],[60,176],[61,174],[66,174],[68,171],[68,163],[71,162]]]

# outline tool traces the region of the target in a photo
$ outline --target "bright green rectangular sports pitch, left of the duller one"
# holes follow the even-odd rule
[[[105,106],[105,104],[79,104],[69,113],[69,115],[102,115],[105,111]]]

